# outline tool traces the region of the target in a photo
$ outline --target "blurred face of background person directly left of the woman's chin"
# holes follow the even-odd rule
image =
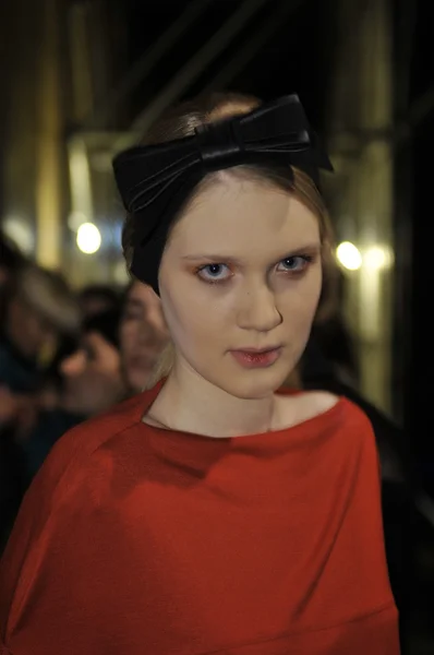
[[[131,393],[140,393],[168,341],[161,302],[149,286],[133,282],[125,296],[120,330],[123,373]]]

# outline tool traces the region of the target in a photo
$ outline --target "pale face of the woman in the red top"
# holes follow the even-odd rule
[[[320,226],[293,195],[224,175],[173,227],[162,309],[178,368],[260,398],[282,384],[308,342],[322,286]]]

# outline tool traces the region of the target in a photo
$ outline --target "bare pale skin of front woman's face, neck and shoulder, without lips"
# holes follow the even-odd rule
[[[336,404],[325,392],[276,394],[303,353],[322,286],[318,218],[294,195],[220,171],[174,225],[159,286],[174,366],[145,422],[238,437]],[[245,369],[231,355],[275,346],[267,368]]]

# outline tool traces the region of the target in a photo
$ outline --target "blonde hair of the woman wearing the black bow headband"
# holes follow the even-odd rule
[[[195,128],[204,124],[238,116],[249,114],[252,109],[258,107],[261,100],[254,96],[234,93],[212,94],[207,97],[200,97],[196,100],[183,103],[171,109],[150,129],[146,138],[142,141],[143,144],[157,144],[191,136],[194,134]],[[308,209],[310,209],[320,222],[320,235],[322,241],[322,261],[323,261],[323,288],[317,307],[315,321],[324,321],[336,311],[337,293],[336,293],[336,272],[337,266],[333,257],[331,243],[331,227],[328,213],[324,200],[317,190],[313,180],[302,170],[292,168],[292,174],[288,175],[288,169],[270,167],[243,165],[237,166],[228,170],[230,175],[241,177],[249,180],[255,180],[261,183],[276,186],[285,191],[292,193]],[[193,195],[188,203],[181,207],[172,226],[184,214],[189,204],[209,184],[215,182],[217,174],[207,175],[194,190]],[[126,260],[128,267],[131,266],[133,247],[134,247],[134,215],[126,216],[125,225],[122,234],[122,248]],[[169,235],[170,237],[170,235]],[[161,352],[158,361],[155,366],[146,384],[147,389],[152,389],[159,380],[166,378],[174,361],[174,347],[171,342]],[[296,380],[296,373],[292,374]]]

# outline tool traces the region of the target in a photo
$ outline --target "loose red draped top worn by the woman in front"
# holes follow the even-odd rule
[[[63,437],[0,568],[1,655],[398,655],[378,461],[341,398],[212,439],[141,421]]]

